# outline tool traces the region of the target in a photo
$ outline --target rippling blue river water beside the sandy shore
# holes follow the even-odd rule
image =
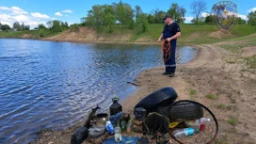
[[[158,46],[81,44],[0,39],[0,143],[27,143],[45,128],[84,120],[92,106],[105,111],[123,99],[143,70],[163,66]],[[195,56],[179,47],[178,63]]]

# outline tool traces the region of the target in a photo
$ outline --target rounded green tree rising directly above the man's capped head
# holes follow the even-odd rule
[[[168,9],[168,14],[170,14],[177,23],[184,23],[184,14],[186,10],[180,7],[177,3],[172,3]],[[163,18],[162,18],[163,19]]]

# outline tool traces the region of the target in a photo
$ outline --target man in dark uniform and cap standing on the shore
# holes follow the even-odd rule
[[[161,40],[167,40],[170,43],[171,46],[171,53],[168,56],[169,58],[165,62],[166,65],[166,72],[164,72],[164,75],[169,75],[169,77],[173,77],[175,75],[176,70],[176,62],[175,62],[175,51],[176,51],[176,43],[177,39],[181,36],[181,28],[179,24],[173,22],[170,15],[166,15],[166,17],[163,19],[165,21],[165,27],[164,30],[158,39],[158,42]],[[165,58],[165,56],[164,56]]]

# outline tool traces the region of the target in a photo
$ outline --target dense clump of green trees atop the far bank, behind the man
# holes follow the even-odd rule
[[[82,24],[87,26],[108,26],[112,31],[112,25],[128,25],[129,28],[140,26],[142,31],[146,31],[148,24],[164,23],[163,18],[168,13],[172,15],[177,23],[184,23],[186,10],[177,3],[171,4],[168,11],[153,9],[151,13],[143,12],[142,8],[123,3],[112,3],[112,5],[95,5],[88,11],[88,16],[81,18]]]

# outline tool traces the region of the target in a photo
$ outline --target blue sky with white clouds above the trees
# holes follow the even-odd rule
[[[207,10],[202,12],[205,16],[211,12],[211,8],[219,0],[204,0],[207,3]],[[31,28],[39,24],[46,24],[48,21],[60,20],[68,24],[80,23],[81,17],[86,17],[88,10],[94,5],[111,5],[119,3],[120,0],[0,0],[0,23],[12,26],[14,22],[30,25]],[[122,0],[135,8],[139,6],[143,12],[150,13],[152,9],[159,8],[167,11],[171,3],[177,3],[186,9],[185,23],[192,18],[190,3],[193,0]],[[249,12],[256,10],[255,0],[232,0],[238,6],[239,16],[247,19]]]

